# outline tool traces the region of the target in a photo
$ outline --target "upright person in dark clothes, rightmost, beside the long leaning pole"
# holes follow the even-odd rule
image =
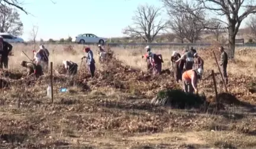
[[[224,77],[225,83],[228,84],[228,74],[227,74],[227,66],[228,66],[228,54],[224,51],[224,48],[219,47],[220,55],[220,67],[222,70],[222,76]]]

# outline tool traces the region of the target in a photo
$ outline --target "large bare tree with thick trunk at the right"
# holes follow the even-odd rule
[[[175,0],[165,0],[165,1],[175,1]],[[216,15],[225,16],[226,22],[218,20],[227,25],[229,33],[229,50],[233,58],[235,53],[235,37],[238,33],[241,22],[248,17],[249,14],[254,14],[256,12],[256,1],[255,0],[195,0],[193,1],[200,5],[199,8],[214,12]],[[188,9],[187,7],[180,6],[184,12],[189,12],[194,14],[194,9]],[[244,10],[242,10],[244,9]],[[239,15],[241,14],[241,15]],[[217,19],[216,19],[217,20]]]

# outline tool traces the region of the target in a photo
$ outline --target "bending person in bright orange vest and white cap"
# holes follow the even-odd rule
[[[185,93],[198,93],[197,82],[203,75],[203,69],[187,70],[182,75],[183,89]]]

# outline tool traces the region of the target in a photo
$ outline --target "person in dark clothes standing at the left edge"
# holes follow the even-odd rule
[[[8,56],[12,50],[11,44],[4,41],[4,38],[0,36],[0,68],[8,69]]]

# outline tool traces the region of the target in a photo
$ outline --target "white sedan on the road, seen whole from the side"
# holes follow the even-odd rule
[[[72,42],[75,43],[99,43],[104,44],[107,38],[97,37],[94,34],[79,34],[75,38],[72,38]]]

